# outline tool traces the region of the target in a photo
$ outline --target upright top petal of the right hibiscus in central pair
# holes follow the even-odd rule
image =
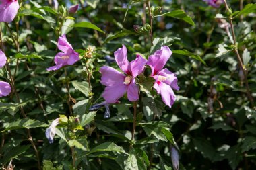
[[[151,67],[152,75],[156,75],[158,71],[162,70],[171,55],[172,51],[170,48],[168,46],[162,46],[154,55],[149,56],[147,65]]]

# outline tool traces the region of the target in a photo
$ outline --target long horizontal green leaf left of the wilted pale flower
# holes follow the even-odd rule
[[[47,127],[48,125],[38,120],[24,118],[21,120],[16,120],[15,122],[5,123],[4,126],[5,126],[5,130],[3,130],[3,132],[7,130],[14,130],[14,129],[20,129],[20,128]]]

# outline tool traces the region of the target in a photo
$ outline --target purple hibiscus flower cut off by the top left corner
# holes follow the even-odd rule
[[[17,0],[0,0],[0,22],[12,22],[19,7]]]

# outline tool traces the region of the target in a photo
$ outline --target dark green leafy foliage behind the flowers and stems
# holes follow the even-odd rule
[[[84,1],[59,1],[59,5],[63,7],[77,3],[84,3]],[[23,5],[18,14],[20,15],[20,53],[28,56],[24,56],[19,61],[15,87],[30,120],[24,127],[20,124],[17,127],[8,128],[9,124],[22,118],[19,105],[15,104],[18,101],[13,94],[0,99],[2,131],[0,164],[2,167],[7,167],[9,161],[13,159],[12,164],[15,165],[15,169],[37,168],[36,156],[28,141],[27,131],[24,129],[30,128],[44,169],[71,169],[71,144],[59,137],[60,132],[55,136],[54,143],[49,144],[44,132],[60,114],[67,117],[77,116],[81,124],[88,120],[86,115],[89,114],[89,117],[92,116],[90,123],[83,124],[84,130],[78,130],[76,133],[76,137],[79,136],[77,141],[84,146],[82,148],[79,144],[75,144],[77,169],[136,169],[129,168],[129,164],[139,167],[138,169],[147,169],[147,161],[150,161],[151,169],[173,169],[170,158],[172,136],[170,133],[163,133],[164,127],[170,128],[179,146],[180,169],[255,169],[256,111],[251,108],[245,93],[245,85],[239,79],[236,54],[230,51],[222,55],[222,52],[226,51],[218,50],[219,45],[232,45],[226,32],[218,26],[214,18],[217,13],[227,16],[224,5],[214,9],[201,0],[160,0],[150,1],[150,3],[154,7],[163,7],[162,13],[183,9],[195,24],[191,25],[182,19],[168,16],[154,18],[154,40],[158,42],[158,38],[166,38],[167,45],[171,45],[170,50],[173,52],[181,50],[174,52],[166,65],[170,71],[177,73],[180,90],[175,91],[177,101],[172,108],[164,106],[160,97],[154,99],[155,105],[146,107],[147,101],[153,99],[147,98],[146,93],[142,91],[137,108],[136,143],[133,148],[130,148],[129,141],[133,127],[132,103],[123,97],[120,104],[110,107],[108,119],[104,118],[104,108],[97,112],[89,112],[88,108],[94,103],[103,101],[100,95],[104,91],[104,86],[100,84],[98,70],[101,66],[108,65],[105,56],[113,56],[113,52],[121,48],[121,44],[127,46],[130,61],[135,58],[137,52],[148,58],[151,48],[152,52],[160,48],[160,46],[156,48],[154,48],[155,45],[151,46],[150,37],[147,34],[137,34],[133,30],[133,25],[143,25],[143,3],[131,5],[125,22],[123,19],[127,9],[122,6],[128,5],[129,2],[120,0],[88,1],[86,7],[82,8],[80,5],[77,13],[72,16],[75,20],[64,19],[75,23],[91,22],[105,34],[86,27],[73,27],[67,22],[61,23],[63,9],[57,10],[58,14],[50,10],[41,9],[40,11],[36,6],[49,6],[54,10],[51,1],[32,1]],[[255,3],[255,1],[244,1],[243,7],[249,3]],[[228,0],[228,4],[232,11],[241,10],[238,0]],[[40,13],[43,17],[40,19],[31,13],[28,16],[22,15],[24,9]],[[15,34],[17,19],[9,24],[13,34]],[[146,15],[146,23],[149,23],[148,15]],[[46,71],[47,67],[53,65],[53,58],[58,52],[56,42],[60,36],[60,26],[69,28],[62,33],[67,34],[67,40],[81,56],[84,55],[88,45],[96,47],[92,58],[84,58],[75,65],[65,67],[67,77],[64,69],[55,72]],[[5,52],[13,73],[17,62],[15,56],[17,57],[18,52],[15,50],[5,24],[1,23],[1,28]],[[121,30],[130,30],[132,33],[126,31],[123,36],[106,41]],[[248,71],[247,78],[251,93],[256,99],[255,9],[247,16],[236,17],[234,30],[241,56],[245,48],[250,52],[251,60],[245,67]],[[207,42],[209,35],[210,41]],[[37,58],[31,54],[36,54]],[[205,62],[205,65],[200,59]],[[92,74],[92,94],[89,93],[88,83],[86,83],[88,68],[85,62],[88,63],[90,74]],[[117,68],[115,63],[110,65]],[[150,69],[146,69],[146,73],[150,74]],[[214,81],[211,81],[213,77]],[[5,69],[0,71],[0,78],[8,81]],[[77,81],[82,82],[85,91],[77,89]],[[67,83],[69,83],[71,97],[76,102],[83,102],[80,107],[71,103],[73,115],[67,104],[69,99]],[[214,111],[209,113],[207,99],[210,97],[211,86],[216,89],[217,94],[213,105]],[[220,103],[223,105],[222,108]],[[151,122],[154,117],[152,110],[155,111],[154,115],[156,114],[155,122]],[[40,122],[29,125],[29,121],[32,120]],[[59,129],[64,130],[64,136],[69,135],[65,133],[65,128]],[[155,132],[155,135],[147,133],[150,129]],[[93,148],[103,143],[106,146],[105,150],[90,153]],[[145,151],[148,156],[141,154],[142,151]],[[131,158],[132,156],[135,159]],[[130,161],[126,161],[129,160],[128,157]],[[51,167],[52,165],[55,168]],[[150,168],[148,166],[148,169]]]

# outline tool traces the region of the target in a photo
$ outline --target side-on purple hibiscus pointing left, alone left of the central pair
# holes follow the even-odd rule
[[[47,68],[47,71],[56,71],[65,65],[73,65],[80,60],[79,54],[73,50],[73,47],[67,42],[66,35],[59,37],[58,48],[62,52],[59,52],[55,56],[55,66]]]

